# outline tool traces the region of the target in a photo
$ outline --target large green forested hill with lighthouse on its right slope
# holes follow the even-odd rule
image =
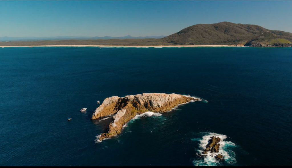
[[[158,40],[174,45],[292,46],[292,33],[267,31],[258,25],[220,22],[192,25]]]

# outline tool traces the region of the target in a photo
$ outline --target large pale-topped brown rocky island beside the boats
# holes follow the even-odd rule
[[[100,136],[99,140],[102,140],[119,134],[123,125],[137,114],[147,111],[167,112],[178,104],[199,100],[174,93],[142,93],[122,98],[112,96],[102,102],[100,107],[93,113],[91,119],[115,114],[112,123],[109,124],[109,130]]]

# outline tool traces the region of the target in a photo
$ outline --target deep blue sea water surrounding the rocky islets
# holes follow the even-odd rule
[[[143,92],[208,103],[96,143],[111,122],[90,120],[96,102]],[[0,48],[0,165],[291,165],[291,95],[292,48]],[[228,136],[229,160],[196,154],[214,133]]]

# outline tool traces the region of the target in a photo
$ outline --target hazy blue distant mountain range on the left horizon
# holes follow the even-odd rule
[[[38,40],[89,40],[89,39],[159,39],[166,36],[146,36],[146,37],[86,37],[86,36],[55,36],[55,37],[0,37],[0,41],[38,41]]]

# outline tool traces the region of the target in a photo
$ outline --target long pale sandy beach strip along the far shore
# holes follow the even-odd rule
[[[103,46],[103,45],[44,45],[44,46],[0,46],[4,47],[232,47],[233,45],[197,45],[197,46]]]

